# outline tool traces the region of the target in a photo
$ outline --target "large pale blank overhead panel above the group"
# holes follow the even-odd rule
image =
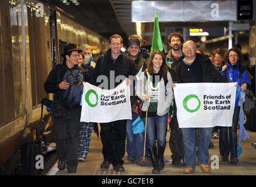
[[[132,22],[237,20],[237,1],[132,1]]]

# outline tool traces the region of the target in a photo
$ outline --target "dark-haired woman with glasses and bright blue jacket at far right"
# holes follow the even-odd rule
[[[225,56],[225,62],[227,65],[226,70],[222,71],[223,77],[229,82],[237,82],[241,86],[241,91],[245,91],[248,85],[251,84],[248,78],[247,72],[241,63],[243,62],[243,56],[236,48],[227,51]],[[236,103],[234,108],[232,127],[220,127],[220,155],[222,156],[222,162],[228,162],[230,153],[230,164],[237,164],[237,124],[239,119],[240,106],[238,106],[239,94],[236,96]],[[229,136],[228,136],[229,128]]]

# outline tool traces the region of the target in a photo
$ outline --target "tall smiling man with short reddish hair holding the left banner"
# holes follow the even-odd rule
[[[110,49],[99,57],[92,76],[94,84],[103,89],[113,89],[119,85],[123,80],[116,81],[117,76],[122,75],[128,81],[129,75],[136,74],[134,61],[121,51],[122,37],[118,34],[111,36],[109,47]],[[124,171],[122,158],[125,152],[126,122],[127,120],[117,120],[101,123],[102,154],[104,155],[102,170],[108,170],[112,163],[116,171]]]

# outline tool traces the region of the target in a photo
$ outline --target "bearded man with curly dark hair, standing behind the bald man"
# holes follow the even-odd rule
[[[175,59],[178,59],[183,55],[182,53],[182,44],[184,42],[183,36],[181,33],[171,33],[168,36],[168,43],[170,50],[167,54],[167,60],[169,66],[174,62]],[[172,119],[170,122],[170,136],[169,136],[169,148],[171,150],[171,159],[172,164],[179,165],[181,164],[181,160],[183,160],[184,157],[184,148],[182,143],[182,131],[179,129],[179,124],[177,120],[177,107],[174,101],[174,105],[172,105],[171,110],[173,110],[172,113]],[[172,111],[171,111],[172,112]]]

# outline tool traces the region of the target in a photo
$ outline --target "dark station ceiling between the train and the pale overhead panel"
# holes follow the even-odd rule
[[[112,34],[118,33],[123,37],[124,41],[127,40],[128,34],[123,24],[126,22],[127,17],[123,15],[123,12],[119,11],[117,1],[111,0],[77,0],[79,5],[73,3],[74,0],[41,0],[50,5],[56,6],[63,10],[63,13],[70,15],[76,22],[87,27],[94,32],[109,38]],[[120,1],[125,7],[128,17],[131,18],[130,1]],[[124,3],[123,3],[124,2]],[[67,3],[69,3],[67,5]],[[115,9],[115,5],[117,5]],[[127,6],[128,5],[128,6]],[[128,10],[128,12],[127,12]],[[118,18],[117,13],[121,13]],[[124,19],[123,19],[124,18]],[[121,20],[120,20],[121,19]],[[122,21],[122,22],[121,22]],[[134,25],[131,20],[128,20],[129,25]],[[127,25],[126,25],[127,26]],[[131,28],[130,26],[128,27]],[[133,31],[132,31],[133,32]],[[135,31],[134,31],[135,32]]]

